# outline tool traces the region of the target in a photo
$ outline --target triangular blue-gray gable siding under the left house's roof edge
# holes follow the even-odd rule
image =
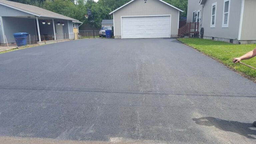
[[[0,16],[32,16],[28,13],[0,5]]]

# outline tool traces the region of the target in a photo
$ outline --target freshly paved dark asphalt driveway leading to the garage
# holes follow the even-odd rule
[[[0,94],[3,143],[256,143],[256,84],[175,39],[0,54]]]

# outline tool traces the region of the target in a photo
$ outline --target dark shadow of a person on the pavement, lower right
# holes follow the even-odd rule
[[[229,131],[234,132],[237,134],[240,134],[242,136],[245,136],[250,139],[256,139],[252,137],[251,135],[256,136],[256,130],[252,130],[250,128],[254,127],[252,123],[241,123],[238,121],[227,121],[222,120],[214,117],[201,117],[201,118],[193,118],[193,121],[196,122],[196,124],[204,125],[204,126],[215,126],[216,128],[223,130],[223,131]]]

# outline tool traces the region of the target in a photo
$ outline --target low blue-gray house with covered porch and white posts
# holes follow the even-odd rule
[[[13,33],[27,32],[31,41],[73,39],[76,19],[32,5],[0,0],[0,43],[15,43]],[[6,38],[5,38],[6,37]]]

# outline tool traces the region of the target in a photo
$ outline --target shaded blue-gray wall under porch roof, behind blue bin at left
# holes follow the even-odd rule
[[[16,18],[16,17],[2,17],[2,18],[3,18],[4,32],[5,32],[8,43],[15,42],[13,33],[26,32],[26,33],[29,33],[31,36],[36,35],[34,19]],[[1,43],[4,43],[2,35],[0,40],[1,40]]]

